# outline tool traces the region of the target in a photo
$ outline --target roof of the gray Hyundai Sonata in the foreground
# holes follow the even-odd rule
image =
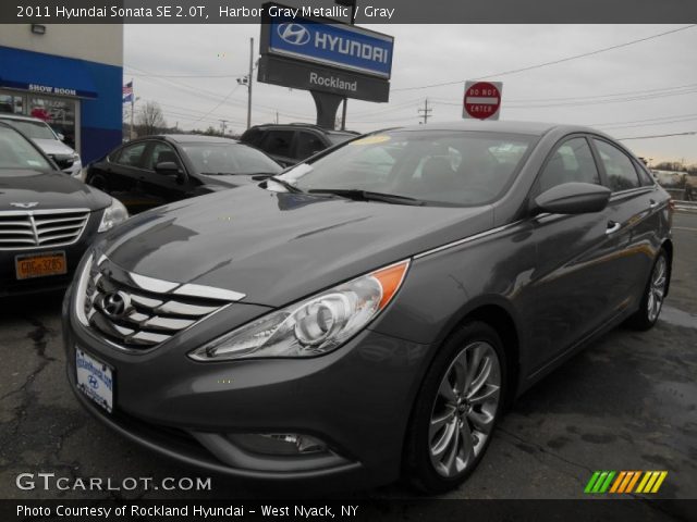
[[[447,123],[429,123],[428,125],[408,125],[404,127],[394,127],[391,130],[478,130],[482,133],[527,134],[531,136],[542,136],[551,130],[603,134],[583,125],[489,120],[463,120]]]

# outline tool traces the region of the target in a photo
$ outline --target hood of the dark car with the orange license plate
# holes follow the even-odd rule
[[[22,210],[11,203],[37,203],[32,210],[89,209],[109,206],[111,198],[63,172],[0,172],[0,211]]]

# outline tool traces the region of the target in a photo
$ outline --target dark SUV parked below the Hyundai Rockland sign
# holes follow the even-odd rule
[[[291,166],[356,136],[356,133],[348,130],[328,130],[318,125],[291,123],[256,125],[245,130],[240,140],[264,150],[281,165]]]

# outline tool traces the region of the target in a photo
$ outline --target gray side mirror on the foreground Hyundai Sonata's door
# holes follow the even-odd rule
[[[608,206],[611,190],[590,183],[564,183],[535,198],[535,210],[553,214],[600,212]]]

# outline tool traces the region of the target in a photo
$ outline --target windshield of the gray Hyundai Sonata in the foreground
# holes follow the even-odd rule
[[[499,133],[392,130],[346,144],[282,177],[304,191],[480,206],[505,189],[534,139]]]

